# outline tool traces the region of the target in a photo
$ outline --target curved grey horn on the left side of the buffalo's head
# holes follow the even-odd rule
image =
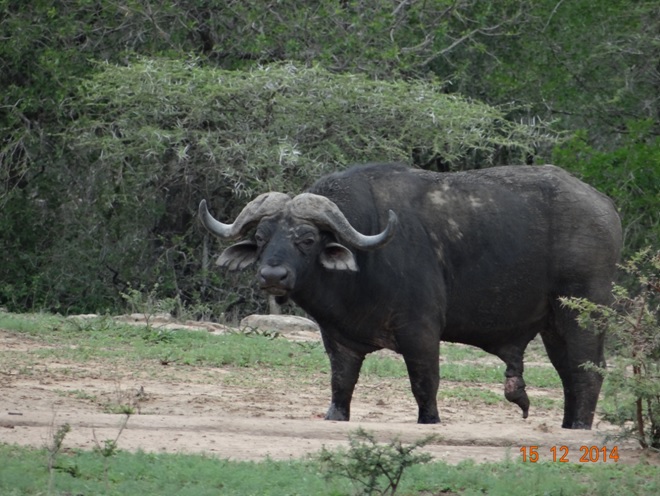
[[[233,224],[223,224],[213,218],[206,206],[206,200],[199,203],[199,219],[212,234],[220,238],[238,238],[263,217],[284,210],[291,197],[284,193],[263,193],[245,205]]]

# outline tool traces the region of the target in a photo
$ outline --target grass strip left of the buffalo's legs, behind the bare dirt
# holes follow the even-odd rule
[[[168,331],[118,324],[104,318],[33,320],[7,314],[0,314],[0,328],[34,340],[35,347],[22,357],[28,366],[49,359],[113,363],[147,361],[154,365],[202,367],[260,366],[286,368],[302,374],[329,370],[320,344],[301,345],[258,334],[218,336],[203,331]],[[1,353],[0,361],[16,362],[19,355],[15,350]]]

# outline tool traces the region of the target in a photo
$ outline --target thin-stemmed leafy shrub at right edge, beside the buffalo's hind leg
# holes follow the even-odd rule
[[[606,332],[617,343],[613,367],[591,365],[604,376],[604,395],[613,405],[604,418],[642,447],[660,450],[660,251],[643,250],[624,269],[635,277],[638,292],[615,287],[612,307],[562,301],[579,312],[580,326]]]

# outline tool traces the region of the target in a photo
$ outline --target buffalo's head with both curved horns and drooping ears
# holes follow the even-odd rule
[[[301,287],[319,264],[328,270],[357,271],[351,248],[374,250],[392,239],[398,220],[388,212],[385,229],[374,235],[358,232],[339,207],[324,196],[303,193],[264,193],[248,203],[232,224],[223,224],[209,213],[206,200],[199,204],[204,226],[222,239],[254,234],[227,248],[217,264],[242,270],[259,261],[261,288],[284,297]]]

